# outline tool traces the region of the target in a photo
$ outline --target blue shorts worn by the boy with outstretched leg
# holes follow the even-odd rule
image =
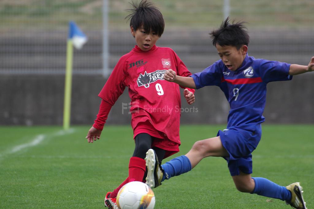
[[[252,152],[256,149],[262,136],[260,124],[231,126],[225,130],[219,130],[222,145],[229,153],[224,157],[228,162],[231,176],[237,176],[240,171],[246,174],[252,173]]]

